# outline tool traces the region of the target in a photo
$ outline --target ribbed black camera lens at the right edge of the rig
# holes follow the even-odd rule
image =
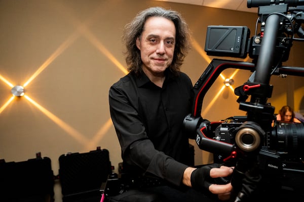
[[[276,125],[272,130],[270,147],[287,153],[304,154],[304,125]]]

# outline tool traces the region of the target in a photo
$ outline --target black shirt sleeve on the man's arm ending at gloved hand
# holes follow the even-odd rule
[[[140,115],[130,97],[119,85],[109,90],[109,106],[113,125],[122,148],[122,158],[144,173],[154,174],[179,186],[186,165],[155,149],[149,140]]]

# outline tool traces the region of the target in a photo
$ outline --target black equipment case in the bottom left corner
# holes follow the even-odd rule
[[[41,158],[22,162],[0,160],[0,201],[54,201],[54,175],[51,159]]]

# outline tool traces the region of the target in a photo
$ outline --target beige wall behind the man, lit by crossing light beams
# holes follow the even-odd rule
[[[110,121],[108,89],[125,75],[124,25],[151,6],[179,11],[192,29],[198,46],[182,70],[193,83],[214,58],[203,51],[206,27],[246,25],[253,33],[257,17],[255,13],[159,1],[0,1],[0,159],[25,161],[41,151],[43,157],[51,158],[57,175],[61,154],[84,153],[101,146],[109,150],[117,171],[120,146]],[[304,46],[295,42],[287,65],[304,67],[303,50]],[[222,74],[229,77],[234,71]],[[234,76],[235,86],[247,81],[249,74],[239,71]],[[276,112],[286,103],[303,112],[302,78],[276,77],[271,84],[275,87],[270,101]],[[27,97],[11,100],[15,85],[23,85]],[[217,95],[222,85],[219,78],[207,93],[203,118],[213,121],[245,114],[238,110],[231,89]],[[196,146],[197,165],[208,163],[209,158]],[[60,191],[56,183],[56,201],[61,201]]]

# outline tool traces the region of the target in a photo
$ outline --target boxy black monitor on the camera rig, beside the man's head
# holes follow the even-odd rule
[[[209,56],[246,58],[249,35],[246,26],[208,26],[205,52]]]

